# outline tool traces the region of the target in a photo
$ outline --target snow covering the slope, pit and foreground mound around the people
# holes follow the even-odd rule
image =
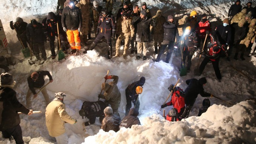
[[[132,1],[139,4],[140,1]],[[243,2],[243,6],[246,2]],[[46,89],[50,99],[54,98],[54,93],[65,92],[66,111],[70,116],[78,120],[77,124],[66,124],[66,133],[69,138],[69,144],[79,143],[256,143],[256,111],[253,101],[244,101],[248,98],[255,98],[256,82],[249,81],[246,77],[234,70],[230,65],[242,70],[252,79],[256,79],[256,59],[247,58],[245,61],[227,62],[220,60],[220,71],[223,79],[218,82],[211,64],[206,66],[202,76],[194,76],[193,71],[187,76],[180,77],[178,69],[180,68],[180,49],[175,49],[170,64],[163,61],[154,62],[157,55],[154,54],[154,46],[150,43],[148,49],[148,60],[142,61],[135,59],[135,55],[129,54],[127,59],[112,58],[106,59],[107,44],[101,42],[95,50],[88,51],[88,54],[79,56],[69,56],[66,59],[58,61],[58,58],[48,59],[43,65],[32,65],[28,59],[24,59],[20,49],[22,48],[17,41],[16,34],[9,27],[9,21],[15,21],[17,16],[22,17],[24,21],[29,22],[35,18],[39,22],[50,11],[55,11],[57,0],[28,0],[28,1],[0,1],[3,6],[4,14],[0,16],[4,30],[7,35],[9,47],[11,48],[13,59],[16,65],[9,66],[12,69],[9,73],[14,76],[17,92],[17,98],[23,104],[26,104],[26,93],[28,85],[26,78],[29,73],[36,70],[47,70],[53,76],[53,83],[50,83]],[[104,3],[100,3],[104,6]],[[209,20],[213,25],[220,24],[220,20],[227,16],[227,11],[232,4],[228,0],[215,1],[196,1],[196,0],[173,0],[147,1],[151,14],[154,15],[158,8],[163,10],[163,15],[175,14],[182,16],[184,13],[190,13],[192,10],[198,11],[198,14],[207,13]],[[140,5],[140,4],[139,4]],[[255,3],[253,3],[253,6]],[[114,4],[116,12],[119,3]],[[92,34],[94,37],[94,34]],[[92,42],[92,41],[91,41]],[[113,43],[114,44],[114,43]],[[115,44],[114,44],[115,45]],[[49,42],[45,44],[47,56],[50,56]],[[83,50],[83,48],[82,48]],[[115,48],[113,47],[113,52]],[[121,54],[123,47],[121,47]],[[115,54],[115,53],[114,53]],[[150,56],[151,55],[151,56]],[[193,70],[198,63],[198,55],[194,55],[191,69]],[[166,54],[161,59],[165,60]],[[202,57],[203,58],[203,57]],[[201,59],[202,61],[202,59]],[[101,83],[104,82],[104,76],[107,70],[109,75],[118,75],[118,88],[121,92],[121,104],[118,109],[121,118],[125,113],[125,89],[129,83],[137,81],[141,76],[146,78],[143,92],[140,95],[140,121],[141,126],[132,126],[132,128],[122,128],[115,133],[108,133],[100,130],[99,121],[87,126],[83,131],[82,123],[86,121],[79,116],[84,100],[96,101],[101,91]],[[212,93],[223,100],[229,101],[234,105],[227,105],[216,98],[210,98],[211,107],[200,117],[196,117],[198,109],[201,107],[203,97],[198,95],[196,103],[190,116],[186,120],[178,122],[169,122],[164,120],[159,111],[161,104],[167,98],[168,86],[180,82],[177,86],[186,89],[186,80],[190,78],[207,78],[207,84],[204,86],[206,92]],[[49,78],[46,76],[46,83]],[[107,80],[109,82],[111,80]],[[169,99],[170,100],[170,99]],[[48,134],[45,125],[45,101],[40,93],[33,100],[33,110],[42,110],[41,114],[32,116],[20,115],[20,126],[23,130],[23,139],[30,144],[49,144],[54,143],[54,139]],[[168,112],[172,106],[165,108]],[[15,141],[9,141],[1,138],[0,143],[14,144]],[[56,142],[55,142],[56,143]]]

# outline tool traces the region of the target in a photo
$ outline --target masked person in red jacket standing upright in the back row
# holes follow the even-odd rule
[[[202,18],[201,20],[198,22],[197,24],[197,27],[196,27],[196,30],[195,32],[197,33],[198,35],[198,38],[197,38],[197,41],[198,41],[198,47],[200,47],[200,44],[201,42],[203,43],[203,45],[206,45],[207,44],[207,40],[204,44],[204,40],[205,40],[205,37],[206,37],[206,33],[207,32],[211,32],[211,24],[210,24],[210,21],[207,20],[207,16],[206,14],[203,14],[202,15]],[[205,46],[204,46],[205,47]],[[200,51],[203,49],[203,47],[200,47]],[[206,51],[206,48],[204,48],[204,51]]]

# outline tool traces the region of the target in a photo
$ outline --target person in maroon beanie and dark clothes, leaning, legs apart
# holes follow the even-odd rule
[[[174,47],[174,41],[175,38],[177,41],[179,41],[180,37],[179,37],[179,33],[178,33],[178,29],[175,26],[174,23],[174,17],[172,15],[169,15],[167,17],[167,22],[164,23],[163,27],[164,27],[164,41],[161,45],[159,54],[157,55],[157,59],[156,62],[160,61],[161,55],[164,53],[164,49],[167,47],[168,45],[168,51],[167,51],[167,56],[166,56],[166,63],[169,63],[170,58],[171,58],[171,54],[173,52],[173,47]]]

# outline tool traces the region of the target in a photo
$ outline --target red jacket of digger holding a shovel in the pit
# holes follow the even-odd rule
[[[177,96],[176,96],[177,94]],[[178,110],[178,113],[180,113],[180,110],[185,107],[185,100],[184,97],[180,96],[180,91],[176,90],[173,95],[171,96],[171,101],[166,103],[168,106],[173,105],[174,108]]]

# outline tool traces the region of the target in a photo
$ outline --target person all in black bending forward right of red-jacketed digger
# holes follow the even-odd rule
[[[185,104],[186,108],[184,113],[179,117],[179,119],[186,119],[192,109],[194,103],[196,102],[197,95],[200,94],[202,97],[213,97],[212,94],[204,92],[203,85],[207,83],[205,77],[200,79],[188,79],[186,80],[188,87],[185,89]]]

